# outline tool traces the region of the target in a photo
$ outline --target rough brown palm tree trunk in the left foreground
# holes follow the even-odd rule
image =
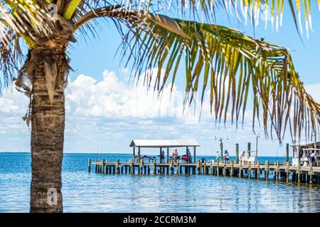
[[[61,167],[65,129],[65,74],[68,62],[64,50],[32,50],[31,83],[31,212],[62,212]],[[33,66],[31,66],[33,65]],[[53,102],[48,96],[46,73],[54,66],[55,92]],[[28,71],[28,68],[26,68]]]

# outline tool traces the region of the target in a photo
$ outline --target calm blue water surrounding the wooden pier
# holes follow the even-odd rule
[[[65,212],[320,212],[320,188],[314,185],[208,175],[97,175],[87,172],[88,158],[97,155],[64,156]],[[260,162],[266,159],[276,157]],[[28,212],[30,165],[30,154],[0,153],[0,212]]]

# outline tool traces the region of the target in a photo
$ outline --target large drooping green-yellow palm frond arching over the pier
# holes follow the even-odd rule
[[[112,15],[120,18],[121,13],[113,11]],[[123,34],[122,55],[129,53],[127,59],[134,62],[137,79],[146,70],[159,69],[156,75],[144,74],[148,87],[152,76],[156,76],[152,85],[160,92],[166,82],[174,83],[184,61],[189,100],[198,91],[203,100],[210,91],[210,109],[218,121],[225,121],[230,113],[232,121],[242,119],[243,123],[251,90],[253,130],[255,120],[262,117],[266,135],[275,134],[281,141],[290,120],[297,138],[303,129],[308,136],[307,131],[319,126],[320,105],[306,93],[286,48],[225,26],[174,19],[188,36],[183,38],[141,12],[127,11],[122,16],[129,28]],[[164,77],[161,69],[165,69]]]

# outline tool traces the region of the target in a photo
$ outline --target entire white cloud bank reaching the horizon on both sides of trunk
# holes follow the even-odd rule
[[[150,73],[157,74],[157,70]],[[230,150],[234,150],[235,143],[240,143],[240,149],[245,149],[249,141],[252,145],[255,143],[250,110],[245,113],[245,125],[238,130],[229,123],[219,128],[210,115],[209,92],[206,92],[199,122],[200,96],[196,96],[196,109],[183,111],[185,94],[176,84],[172,92],[171,84],[167,84],[159,97],[152,89],[146,89],[143,79],[132,86],[127,69],[120,70],[120,74],[118,77],[105,70],[101,79],[80,74],[68,82],[66,152],[95,152],[101,148],[110,153],[129,153],[132,138],[196,138],[201,143],[199,152],[206,155],[218,149],[214,136],[228,136],[225,148]],[[320,101],[320,84],[307,85],[306,89]],[[6,90],[0,96],[0,150],[30,150],[30,132],[21,120],[27,107],[28,98],[15,89]],[[276,141],[264,138],[260,138],[260,145],[262,155],[275,155],[279,149]]]

